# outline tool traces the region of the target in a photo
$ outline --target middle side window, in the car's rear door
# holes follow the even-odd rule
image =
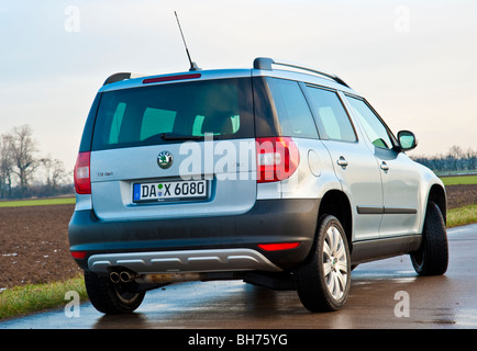
[[[307,87],[311,109],[323,139],[356,141],[350,117],[334,91]]]

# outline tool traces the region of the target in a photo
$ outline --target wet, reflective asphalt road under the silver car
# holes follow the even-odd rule
[[[67,317],[62,308],[0,321],[0,329],[474,329],[477,225],[450,229],[448,242],[450,265],[442,276],[418,276],[408,256],[359,265],[348,302],[336,313],[309,313],[293,291],[240,281],[188,282],[148,292],[131,315],[104,316],[85,303],[79,317]]]

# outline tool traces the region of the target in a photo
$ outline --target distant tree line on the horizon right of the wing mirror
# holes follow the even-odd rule
[[[477,150],[464,150],[453,146],[446,154],[431,157],[415,156],[412,159],[432,169],[437,174],[455,172],[477,172]]]

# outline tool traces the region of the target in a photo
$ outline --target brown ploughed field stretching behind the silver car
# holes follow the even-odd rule
[[[477,203],[477,184],[446,188],[448,208]],[[0,207],[0,291],[73,278],[68,223],[75,205]]]

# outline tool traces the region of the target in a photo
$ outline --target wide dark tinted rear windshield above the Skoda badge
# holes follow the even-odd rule
[[[104,92],[92,149],[254,136],[251,79],[203,80]]]

